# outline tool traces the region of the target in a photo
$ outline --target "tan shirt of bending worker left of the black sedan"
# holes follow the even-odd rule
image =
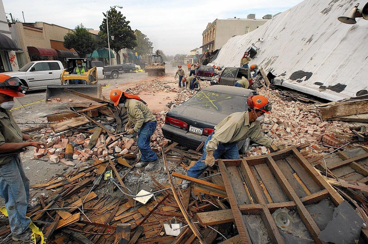
[[[125,108],[127,109],[129,120],[134,124],[133,130],[135,132],[138,132],[143,123],[157,121],[156,116],[153,115],[151,110],[141,101],[127,98],[125,101]]]

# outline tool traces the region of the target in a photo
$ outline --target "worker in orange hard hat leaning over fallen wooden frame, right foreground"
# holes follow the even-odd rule
[[[208,136],[203,146],[203,156],[188,169],[187,175],[198,178],[208,166],[215,164],[215,159],[238,159],[237,141],[248,137],[256,143],[266,147],[278,149],[283,143],[269,139],[261,132],[261,121],[265,113],[269,114],[272,103],[261,95],[249,96],[247,99],[248,111],[236,112],[224,118],[215,130]],[[205,162],[202,162],[205,160]],[[188,181],[182,187],[187,189]]]

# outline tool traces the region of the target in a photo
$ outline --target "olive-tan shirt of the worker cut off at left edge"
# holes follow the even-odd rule
[[[9,110],[0,109],[0,146],[4,143],[20,143],[23,141],[23,135],[17,122]],[[12,152],[4,153],[11,154]],[[20,151],[14,151],[17,155]],[[14,155],[1,156],[0,165],[7,164],[11,161]]]

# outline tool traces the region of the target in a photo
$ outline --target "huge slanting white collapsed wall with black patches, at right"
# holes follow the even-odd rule
[[[327,100],[356,96],[368,87],[368,21],[357,18],[357,24],[348,25],[337,20],[355,3],[305,0],[255,31],[232,37],[214,63],[239,67],[254,43],[259,50],[250,64],[272,72],[276,85]]]

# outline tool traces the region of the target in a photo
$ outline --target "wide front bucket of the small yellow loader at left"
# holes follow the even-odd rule
[[[60,98],[60,102],[69,103],[70,99],[73,102],[91,101],[87,98],[79,97],[70,92],[64,90],[64,88],[74,90],[76,92],[84,93],[91,97],[102,99],[102,86],[96,85],[48,85],[46,90],[46,103],[47,101],[54,101]],[[48,100],[50,99],[50,100]]]

